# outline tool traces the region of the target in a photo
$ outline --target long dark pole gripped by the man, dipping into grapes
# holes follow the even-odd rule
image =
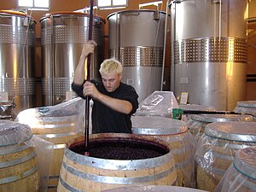
[[[93,25],[93,0],[90,0],[90,15],[89,15],[89,37],[92,39],[92,25]],[[90,55],[87,57],[87,76],[86,80],[90,81]],[[85,129],[84,129],[84,155],[89,156],[89,113],[90,113],[90,97],[85,99]]]

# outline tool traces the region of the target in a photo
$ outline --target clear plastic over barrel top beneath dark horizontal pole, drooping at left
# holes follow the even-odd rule
[[[204,133],[205,127],[213,122],[228,122],[228,121],[252,121],[251,115],[241,114],[193,114],[187,122],[189,131],[198,140]]]

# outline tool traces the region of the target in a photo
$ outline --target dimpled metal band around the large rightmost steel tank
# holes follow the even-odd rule
[[[175,62],[247,62],[247,42],[241,38],[183,39],[175,44]]]

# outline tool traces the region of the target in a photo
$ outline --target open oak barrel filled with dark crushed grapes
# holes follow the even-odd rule
[[[103,150],[99,153],[100,157],[92,154],[97,145],[98,149]],[[119,149],[122,145],[124,148]],[[172,149],[160,139],[133,134],[92,134],[90,155],[85,156],[83,150],[78,148],[84,149],[84,137],[67,143],[58,191],[102,191],[131,184],[172,185],[177,177]],[[152,152],[161,153],[160,156],[149,157],[148,154]],[[108,159],[102,158],[102,154],[109,155]],[[136,158],[130,157],[134,154]],[[148,157],[137,159],[142,154]]]

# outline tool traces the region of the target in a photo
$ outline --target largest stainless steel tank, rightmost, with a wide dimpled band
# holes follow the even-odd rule
[[[172,1],[172,90],[189,102],[233,110],[245,99],[247,1]],[[173,67],[174,66],[174,67]]]

